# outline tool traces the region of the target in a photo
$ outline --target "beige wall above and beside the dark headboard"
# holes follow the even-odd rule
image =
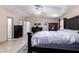
[[[63,18],[71,18],[79,15],[79,5],[74,6],[71,10],[69,10],[65,15],[63,15],[60,19],[60,29],[64,29]]]

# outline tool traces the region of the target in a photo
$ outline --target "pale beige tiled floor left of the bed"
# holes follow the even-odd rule
[[[0,53],[16,53],[26,43],[27,43],[27,37],[11,39],[9,41],[0,43]]]

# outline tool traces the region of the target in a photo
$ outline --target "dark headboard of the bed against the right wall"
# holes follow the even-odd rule
[[[79,30],[79,15],[72,18],[64,18],[64,29]]]

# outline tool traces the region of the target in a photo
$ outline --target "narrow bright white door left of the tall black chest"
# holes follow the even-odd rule
[[[8,17],[8,38],[13,37],[13,18]]]

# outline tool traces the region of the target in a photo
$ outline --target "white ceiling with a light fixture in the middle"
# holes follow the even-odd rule
[[[60,17],[73,6],[70,5],[6,5],[9,11],[21,16]]]

